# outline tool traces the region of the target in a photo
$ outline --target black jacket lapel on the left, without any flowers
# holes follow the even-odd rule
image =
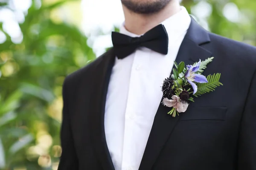
[[[104,113],[111,70],[115,55],[111,48],[99,58],[94,68],[95,75],[90,95],[90,132],[94,150],[104,170],[114,170],[105,137]]]

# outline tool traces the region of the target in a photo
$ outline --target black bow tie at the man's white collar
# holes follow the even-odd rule
[[[162,24],[152,28],[141,37],[129,37],[112,32],[112,42],[119,59],[132,54],[138,47],[146,47],[165,55],[168,53],[168,34]]]

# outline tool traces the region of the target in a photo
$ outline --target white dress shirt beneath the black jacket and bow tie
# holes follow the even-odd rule
[[[115,170],[138,170],[169,77],[191,18],[186,8],[163,21],[169,37],[167,55],[138,48],[115,59],[105,105],[105,135]],[[122,25],[120,33],[139,37]]]

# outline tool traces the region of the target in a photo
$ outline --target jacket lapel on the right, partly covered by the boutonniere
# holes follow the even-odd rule
[[[199,59],[204,60],[211,57],[212,54],[201,47],[201,45],[209,42],[208,32],[201,28],[192,18],[175,61],[177,63],[183,61],[187,65],[192,65],[194,62],[198,62]],[[154,118],[139,170],[151,170],[180,118],[180,116],[173,118],[168,115],[167,113],[170,111],[170,108],[163,106],[161,102]]]

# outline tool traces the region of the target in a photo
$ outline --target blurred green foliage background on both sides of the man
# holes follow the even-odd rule
[[[208,30],[256,45],[254,0],[183,0],[182,5]],[[80,6],[80,0],[32,0],[18,23],[20,33],[12,37],[4,23],[9,16],[1,11],[17,11],[11,0],[0,0],[0,170],[58,167],[62,83],[96,58],[81,29]],[[60,17],[63,9],[71,11],[70,18]]]

